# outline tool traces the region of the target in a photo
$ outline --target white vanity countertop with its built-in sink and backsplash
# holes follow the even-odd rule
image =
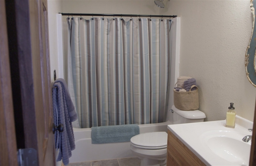
[[[225,120],[172,124],[168,129],[206,165],[249,165],[251,141],[244,142],[253,122],[236,116],[235,128],[225,127]]]

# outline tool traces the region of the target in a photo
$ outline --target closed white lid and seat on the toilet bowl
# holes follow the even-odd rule
[[[131,138],[131,143],[137,145],[136,147],[152,147],[153,149],[167,147],[167,133],[166,132],[146,132],[135,135]]]

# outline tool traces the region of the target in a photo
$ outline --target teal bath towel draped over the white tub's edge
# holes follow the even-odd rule
[[[92,144],[129,142],[140,133],[138,124],[92,127]]]

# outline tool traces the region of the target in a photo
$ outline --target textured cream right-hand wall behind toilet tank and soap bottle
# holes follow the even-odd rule
[[[160,14],[181,17],[180,75],[197,80],[206,120],[225,119],[234,102],[237,115],[253,121],[256,87],[244,66],[252,32],[250,1],[170,0]]]

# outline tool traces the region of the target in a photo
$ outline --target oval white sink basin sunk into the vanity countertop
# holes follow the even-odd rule
[[[249,165],[250,142],[242,141],[244,135],[230,131],[209,131],[200,136],[205,147],[215,155],[234,163],[234,165]],[[238,139],[240,138],[240,139]]]

